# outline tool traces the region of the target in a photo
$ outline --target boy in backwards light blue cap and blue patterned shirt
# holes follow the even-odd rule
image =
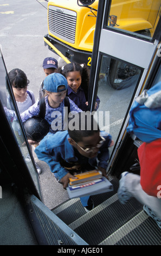
[[[44,119],[51,125],[49,133],[55,133],[57,131],[63,131],[65,129],[65,96],[67,92],[67,80],[59,74],[53,73],[48,75],[44,79],[43,89],[46,90],[46,96],[44,97],[46,104],[46,114]],[[69,99],[70,112],[81,112],[81,109],[75,105],[75,103]],[[27,111],[21,114],[22,122],[24,123],[29,118],[37,116],[40,113],[39,101],[33,106],[29,107]],[[33,142],[35,144],[35,142]]]

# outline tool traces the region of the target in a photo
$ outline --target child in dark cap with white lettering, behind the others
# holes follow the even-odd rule
[[[57,60],[51,57],[45,58],[43,60],[42,66],[43,66],[44,73],[46,74],[46,76],[48,76],[54,73],[58,68]],[[44,94],[45,94],[45,90],[43,89],[43,81],[41,82],[40,88],[38,90],[38,100],[44,97]]]

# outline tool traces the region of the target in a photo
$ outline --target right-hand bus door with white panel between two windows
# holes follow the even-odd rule
[[[129,139],[126,132],[128,113],[135,97],[150,87],[160,63],[160,4],[161,0],[99,1],[89,106],[92,112],[98,96],[100,105],[95,117],[100,129],[110,133],[114,140],[107,169],[110,174],[119,175],[126,170],[125,166],[128,169],[137,161],[137,149],[133,150],[136,138],[130,138],[131,144],[125,143]],[[121,23],[123,14],[126,26]],[[126,20],[130,17],[127,26]],[[143,23],[141,32],[140,28],[139,32],[131,32],[131,26],[137,24],[139,27]],[[121,150],[122,155],[118,154]],[[119,161],[118,156],[121,156]]]

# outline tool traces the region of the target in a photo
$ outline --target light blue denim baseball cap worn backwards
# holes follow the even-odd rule
[[[43,81],[43,90],[47,90],[48,92],[51,93],[59,93],[62,92],[63,90],[67,90],[68,88],[68,82],[66,78],[59,74],[59,73],[53,73],[48,75],[44,81]],[[59,86],[65,86],[65,88],[59,90]]]

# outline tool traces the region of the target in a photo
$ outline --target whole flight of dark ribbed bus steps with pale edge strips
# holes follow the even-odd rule
[[[113,192],[92,197],[95,205],[92,211],[86,213],[80,199],[75,198],[53,212],[88,245],[160,245],[160,230],[145,214],[143,205],[134,198],[122,205],[117,197],[119,182],[117,179],[111,182]]]

